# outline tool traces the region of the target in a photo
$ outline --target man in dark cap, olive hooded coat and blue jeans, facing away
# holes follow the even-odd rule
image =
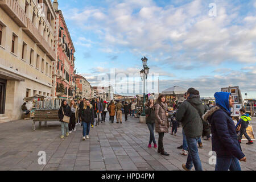
[[[188,145],[187,163],[182,164],[183,169],[189,171],[193,165],[196,171],[203,171],[201,160],[198,153],[197,142],[203,134],[203,121],[199,115],[204,114],[205,106],[200,100],[200,96],[196,95],[198,91],[189,88],[187,91],[187,100],[179,106],[176,119],[181,122]]]

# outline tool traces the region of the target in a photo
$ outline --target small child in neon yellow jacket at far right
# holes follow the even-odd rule
[[[241,119],[240,119],[241,128],[240,128],[238,140],[240,143],[242,143],[242,137],[244,135],[245,138],[248,140],[246,144],[253,144],[253,141],[251,140],[251,138],[249,137],[246,131],[247,127],[249,126],[249,121],[251,121],[250,115],[246,114],[246,111],[244,108],[240,109],[240,114],[241,114]]]

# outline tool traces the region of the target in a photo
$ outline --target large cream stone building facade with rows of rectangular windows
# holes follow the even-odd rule
[[[0,114],[11,121],[24,97],[51,96],[55,19],[51,0],[0,0]]]

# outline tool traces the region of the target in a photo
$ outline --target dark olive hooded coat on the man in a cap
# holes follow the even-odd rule
[[[179,106],[176,113],[176,119],[183,125],[184,133],[187,137],[196,138],[203,134],[203,121],[195,107],[189,102],[192,102],[202,114],[206,113],[207,107],[203,105],[200,96],[189,96],[189,98]]]

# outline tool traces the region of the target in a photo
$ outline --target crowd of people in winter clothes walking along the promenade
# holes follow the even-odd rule
[[[253,144],[246,133],[251,119],[245,109],[240,110],[241,120],[236,126],[231,117],[231,108],[234,105],[231,93],[215,93],[216,104],[210,102],[209,105],[200,100],[200,93],[194,88],[189,88],[184,97],[185,101],[177,105],[174,117],[168,112],[164,95],[159,95],[156,102],[154,96],[148,98],[145,104],[146,124],[150,133],[148,148],[151,148],[153,143],[160,155],[169,156],[164,150],[164,134],[169,133],[172,123],[171,135],[176,135],[177,127],[181,123],[183,144],[177,148],[181,149],[181,155],[187,156],[187,163],[182,165],[183,169],[190,171],[194,166],[196,171],[203,170],[198,148],[203,149],[202,139],[206,137],[205,140],[212,140],[212,150],[217,154],[216,171],[241,171],[240,162],[246,162],[240,145],[242,135],[249,140],[246,144]],[[119,101],[108,103],[100,98],[96,101],[84,98],[82,101],[71,101],[68,105],[67,100],[63,100],[59,109],[60,138],[64,138],[64,134],[68,137],[72,131],[76,131],[76,125],[81,125],[82,140],[89,139],[90,127],[94,127],[94,123],[97,126],[105,122],[107,112],[111,123],[114,123],[115,116],[117,123],[122,123],[122,114],[125,114],[125,121],[129,113],[134,117],[136,105],[134,101],[130,104]],[[65,122],[65,117],[69,118],[69,122]],[[171,123],[168,119],[170,117]],[[158,133],[158,143],[154,131]]]

